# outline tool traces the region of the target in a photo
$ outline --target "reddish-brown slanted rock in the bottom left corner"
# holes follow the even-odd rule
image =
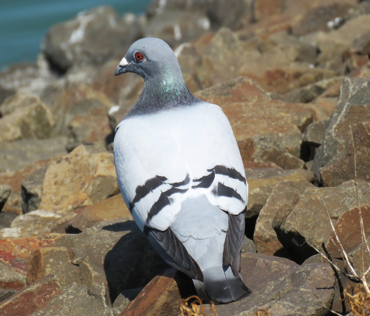
[[[59,281],[50,275],[1,302],[0,310],[3,315],[34,315],[34,312],[45,308],[61,292]]]

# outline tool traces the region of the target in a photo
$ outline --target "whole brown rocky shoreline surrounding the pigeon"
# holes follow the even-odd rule
[[[192,93],[222,107],[242,154],[241,274],[253,293],[218,315],[348,313],[342,292],[356,282],[314,248],[345,271],[327,211],[361,272],[370,1],[154,0],[143,16],[84,11],[50,29],[36,64],[0,73],[0,315],[177,316],[195,293],[139,231],[115,176],[114,128],[142,79],[113,73],[147,36],[174,49]]]

